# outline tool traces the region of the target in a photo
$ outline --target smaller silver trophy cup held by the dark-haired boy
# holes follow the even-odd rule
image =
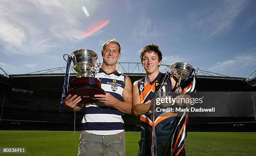
[[[179,84],[181,80],[186,79],[190,73],[193,71],[193,67],[190,64],[185,62],[176,62],[171,66],[172,74],[179,79]],[[199,72],[199,68],[195,69],[196,72]],[[178,84],[178,86],[179,86]],[[177,88],[179,91],[179,88]]]

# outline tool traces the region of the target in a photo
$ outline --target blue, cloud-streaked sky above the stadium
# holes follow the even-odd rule
[[[255,0],[1,0],[0,21],[0,67],[8,74],[65,66],[63,54],[77,49],[102,60],[102,43],[112,38],[120,62],[140,62],[141,48],[153,42],[163,64],[185,61],[233,77],[256,69]]]

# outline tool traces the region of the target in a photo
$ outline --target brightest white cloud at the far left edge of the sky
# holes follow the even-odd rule
[[[52,44],[45,42],[49,39],[44,37],[33,20],[24,15],[33,11],[29,4],[27,1],[6,1],[0,5],[0,43],[2,51],[7,54],[41,53]]]

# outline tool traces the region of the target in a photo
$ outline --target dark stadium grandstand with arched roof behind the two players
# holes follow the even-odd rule
[[[169,65],[161,65],[160,71],[164,72],[166,66]],[[128,75],[132,83],[146,75],[141,63],[119,62],[117,69]],[[0,68],[0,129],[74,130],[74,113],[67,110],[59,113],[65,71],[64,66],[8,75]],[[74,78],[72,70],[70,80]],[[256,71],[244,78],[200,70],[197,91],[256,91]],[[76,113],[77,130],[82,116],[83,110]],[[125,130],[140,131],[139,117],[123,115],[123,120]],[[189,131],[256,131],[256,117],[191,117]]]

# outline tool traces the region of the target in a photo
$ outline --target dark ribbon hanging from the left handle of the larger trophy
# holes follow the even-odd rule
[[[68,55],[68,59],[66,60],[64,58],[65,55]],[[69,74],[70,74],[70,68],[71,68],[71,62],[72,62],[72,56],[69,54],[65,54],[63,58],[67,61],[67,68],[66,68],[66,74],[64,78],[64,84],[63,84],[63,92],[61,96],[61,106],[60,106],[60,113],[63,111],[63,105],[64,105],[64,96],[68,90],[68,82],[69,82]]]

